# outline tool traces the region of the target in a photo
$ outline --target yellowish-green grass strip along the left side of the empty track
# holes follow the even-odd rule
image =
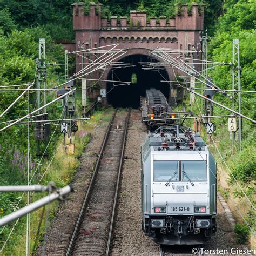
[[[63,187],[70,184],[72,182],[73,175],[79,166],[78,158],[83,153],[86,145],[90,142],[93,128],[95,125],[101,125],[102,121],[109,121],[112,117],[112,113],[113,109],[111,108],[107,110],[102,109],[94,114],[93,118],[89,120],[90,123],[84,121],[78,122],[79,129],[72,138],[72,143],[75,143],[75,154],[73,156],[68,156],[68,154],[65,153],[62,146],[63,137],[61,137],[56,145],[55,156],[51,164],[50,159],[48,159],[47,161],[44,161],[41,166],[41,175],[47,169],[41,184],[48,184],[49,181],[54,181],[57,187]],[[43,196],[46,196],[46,193],[36,193],[32,197],[32,201],[36,201]],[[55,216],[58,206],[59,202],[54,201],[49,206],[31,213],[30,254],[35,252],[38,245],[43,241],[46,228],[49,226],[50,220]],[[47,212],[49,212],[48,223],[46,223]],[[9,224],[8,226],[11,227],[12,224]],[[8,230],[6,229],[6,231]],[[6,237],[6,234],[7,233],[4,234],[3,238]],[[25,251],[26,217],[22,217],[1,255],[25,255]]]

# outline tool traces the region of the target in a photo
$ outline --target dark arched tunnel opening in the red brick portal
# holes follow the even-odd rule
[[[145,55],[130,55],[121,60],[134,66],[110,70],[107,80],[120,80],[133,82],[130,85],[117,85],[113,82],[106,84],[107,102],[113,107],[132,107],[138,109],[140,96],[145,97],[146,89],[154,87],[169,98],[170,85],[160,82],[170,80],[166,70],[143,70],[143,62],[156,62],[157,60]]]

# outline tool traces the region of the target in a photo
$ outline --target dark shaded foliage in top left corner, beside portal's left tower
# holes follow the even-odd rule
[[[3,21],[2,13],[9,12],[18,29],[42,26],[55,40],[71,41],[75,38],[72,24],[73,0],[0,0],[0,26],[12,23],[9,16]]]

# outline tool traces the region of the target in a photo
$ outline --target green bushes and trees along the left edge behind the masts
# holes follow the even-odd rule
[[[23,31],[16,30],[18,25],[12,19],[7,9],[0,11],[0,84],[17,85],[35,82],[36,58],[38,56],[38,39],[46,39],[46,53],[48,62],[64,62],[64,53],[62,45],[53,43],[48,32],[42,27],[25,28]],[[58,79],[62,79],[63,70],[59,67],[48,69],[48,83],[53,86]],[[13,87],[9,87],[13,88]],[[24,88],[24,87],[15,87]],[[1,91],[0,94],[0,113],[8,107],[19,95],[20,91]],[[35,107],[35,93],[29,93],[30,104],[28,104],[28,93],[18,100],[15,106],[4,114],[1,122],[4,120],[13,120],[25,116]],[[55,93],[49,93],[49,100],[55,96]],[[49,108],[50,117],[59,117],[62,111],[61,105],[55,105]],[[1,124],[0,127],[6,126]],[[30,126],[30,138],[33,136],[33,126]],[[48,148],[49,156],[55,150],[55,143],[58,135],[54,136]],[[30,140],[32,155],[30,170],[35,171],[37,167],[35,161],[37,157],[36,142]],[[28,127],[26,125],[15,125],[10,129],[0,133],[0,185],[23,185],[27,182],[28,175]],[[33,183],[37,183],[41,178],[41,172],[37,172]],[[0,218],[14,211],[14,208],[21,197],[20,193],[0,193]],[[21,201],[19,207],[24,206],[25,200]],[[23,225],[22,223],[19,225]],[[11,230],[11,226],[4,228],[0,232],[0,247],[3,245],[1,238],[6,238]]]

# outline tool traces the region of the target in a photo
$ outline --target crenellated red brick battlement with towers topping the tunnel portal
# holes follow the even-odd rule
[[[176,29],[176,30],[202,30],[204,16],[199,12],[197,3],[193,3],[188,11],[186,4],[181,5],[178,14],[174,18],[166,20],[166,17],[147,18],[145,11],[130,11],[130,17],[111,16],[107,18],[101,16],[101,4],[91,2],[90,6],[84,7],[84,2],[74,3],[73,17],[74,29],[115,29],[115,30],[140,30],[140,29]]]

